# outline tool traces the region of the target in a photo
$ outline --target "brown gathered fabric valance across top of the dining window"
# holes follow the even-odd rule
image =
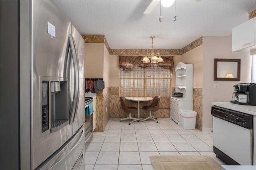
[[[174,69],[174,62],[173,56],[161,56],[164,62],[162,63],[143,63],[142,59],[144,56],[126,56],[126,55],[119,55],[119,68],[122,68],[124,71],[131,71],[133,67],[151,67],[152,65],[161,65],[166,68],[169,68],[171,73],[173,74]]]

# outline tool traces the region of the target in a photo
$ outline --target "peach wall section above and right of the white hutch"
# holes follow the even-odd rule
[[[204,43],[204,42],[203,42]],[[203,45],[200,45],[182,55],[174,56],[174,65],[179,62],[193,64],[193,85],[196,83],[196,88],[203,87]],[[175,73],[175,70],[174,70]],[[173,76],[175,77],[175,76]],[[172,87],[175,86],[175,81],[172,82]]]

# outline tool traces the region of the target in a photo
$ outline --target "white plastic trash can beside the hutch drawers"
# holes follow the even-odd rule
[[[196,112],[195,111],[180,111],[181,126],[184,129],[196,128]]]

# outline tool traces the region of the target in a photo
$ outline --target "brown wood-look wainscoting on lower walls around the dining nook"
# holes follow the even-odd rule
[[[104,93],[103,93],[104,91]],[[94,131],[103,132],[110,118],[128,117],[129,113],[124,113],[121,108],[119,99],[119,87],[107,87],[97,94],[96,97],[96,128]],[[104,95],[103,95],[104,94]],[[196,128],[202,131],[202,88],[193,89],[193,110],[197,112]],[[138,107],[137,103],[125,100],[127,106]],[[143,106],[150,105],[151,101],[140,104]],[[148,111],[140,110],[140,117],[148,117]],[[158,118],[170,117],[170,97],[161,97],[160,105],[157,112],[153,113]],[[138,117],[138,113],[131,114],[132,117]]]

